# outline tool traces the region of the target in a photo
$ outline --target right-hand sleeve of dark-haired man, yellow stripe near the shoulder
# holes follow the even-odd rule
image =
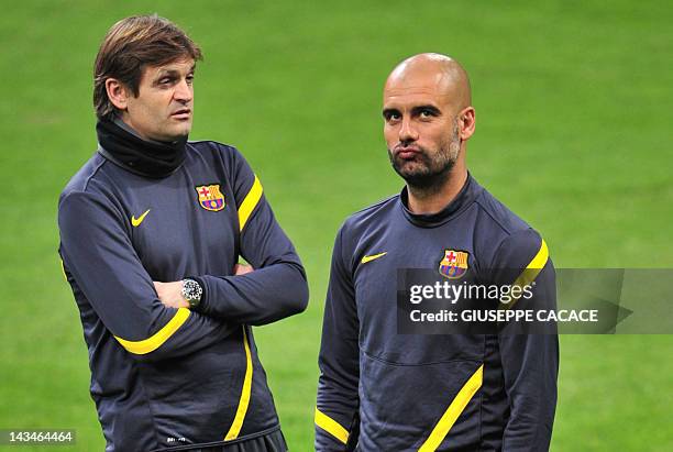
[[[306,309],[308,284],[293,243],[276,221],[260,179],[234,148],[233,191],[240,254],[254,272],[239,276],[199,275],[205,287],[200,312],[260,326]]]

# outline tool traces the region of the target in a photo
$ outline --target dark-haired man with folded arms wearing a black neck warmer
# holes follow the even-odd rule
[[[287,450],[251,326],[302,311],[306,275],[239,151],[187,141],[200,58],[156,15],[110,29],[58,203],[107,451]]]

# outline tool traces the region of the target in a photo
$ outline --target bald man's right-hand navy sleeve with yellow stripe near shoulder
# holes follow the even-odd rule
[[[531,284],[532,297],[510,301],[507,309],[556,307],[554,267],[547,243],[532,229],[515,232],[500,244],[494,278],[498,285]],[[504,326],[498,334],[510,410],[503,451],[547,451],[556,407],[559,337],[555,324],[532,332],[514,327]]]

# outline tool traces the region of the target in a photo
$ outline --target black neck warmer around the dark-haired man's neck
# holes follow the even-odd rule
[[[140,176],[162,178],[185,162],[187,136],[173,143],[143,140],[110,120],[96,124],[98,152],[122,168]]]

